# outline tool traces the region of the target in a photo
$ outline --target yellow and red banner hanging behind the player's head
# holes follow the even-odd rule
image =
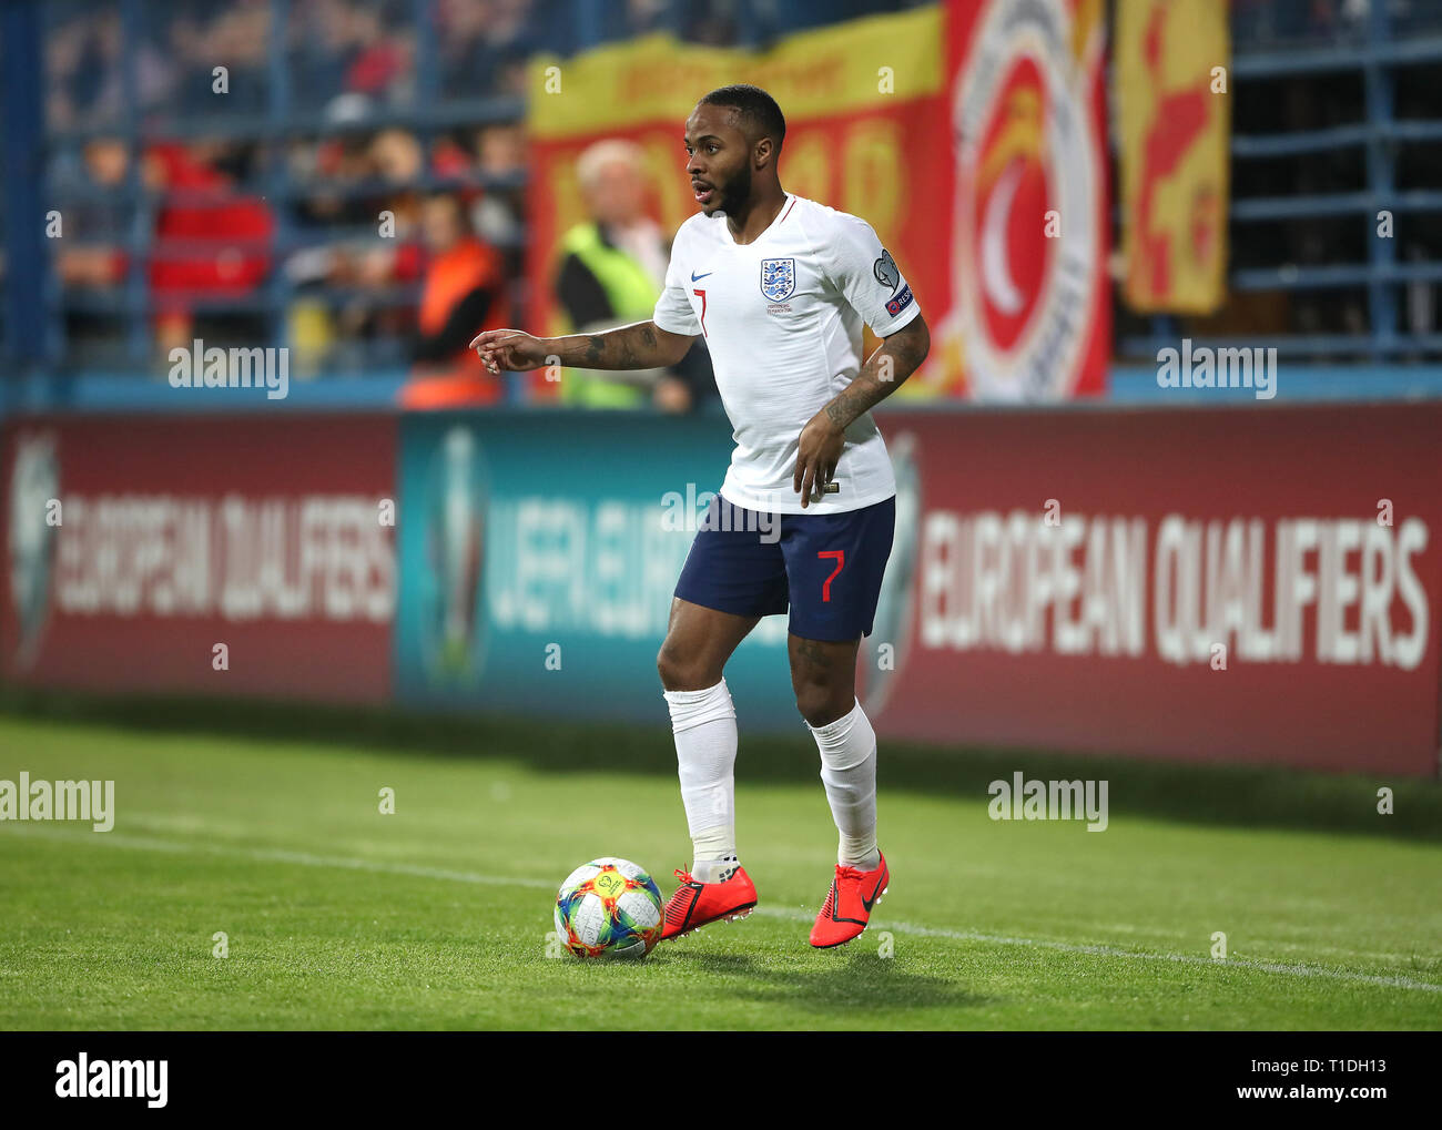
[[[947,164],[943,53],[943,12],[930,6],[786,36],[764,52],[652,35],[574,59],[532,58],[528,329],[561,332],[552,278],[561,236],[585,218],[578,154],[604,137],[637,143],[652,212],[673,232],[696,210],[685,172],[686,115],[730,82],[766,88],[786,114],[782,183],[867,219],[923,307],[939,303],[946,281],[937,254]]]

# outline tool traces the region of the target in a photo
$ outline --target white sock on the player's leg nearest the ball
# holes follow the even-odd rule
[[[705,690],[665,690],[676,775],[695,848],[691,873],[720,882],[735,859],[735,705],[725,679]]]

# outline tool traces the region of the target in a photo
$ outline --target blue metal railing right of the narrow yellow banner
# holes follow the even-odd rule
[[[1233,7],[1233,94],[1247,85],[1265,86],[1291,81],[1293,92],[1309,92],[1321,99],[1331,84],[1358,84],[1355,121],[1321,127],[1259,130],[1244,115],[1246,102],[1237,101],[1233,115],[1233,197],[1231,197],[1231,268],[1229,285],[1234,293],[1282,291],[1306,301],[1306,293],[1331,293],[1334,303],[1354,300],[1366,317],[1366,330],[1335,333],[1319,329],[1269,336],[1190,334],[1187,321],[1155,317],[1145,334],[1123,334],[1118,352],[1126,357],[1155,357],[1156,350],[1174,346],[1181,334],[1195,344],[1275,346],[1279,356],[1311,360],[1442,357],[1442,332],[1430,316],[1430,288],[1442,282],[1442,262],[1430,244],[1442,221],[1442,183],[1409,187],[1399,184],[1399,154],[1435,147],[1442,140],[1442,88],[1435,82],[1442,68],[1442,4],[1412,0],[1370,0],[1363,4],[1244,3]],[[1425,81],[1423,112],[1428,117],[1400,118],[1394,92],[1407,72],[1430,75]],[[1302,157],[1347,157],[1357,166],[1357,176],[1347,187],[1293,190],[1250,195],[1237,182],[1250,166]],[[1344,177],[1335,177],[1344,179]],[[1439,179],[1442,182],[1442,179]],[[1390,235],[1379,235],[1380,215],[1390,213]],[[1409,223],[1428,223],[1425,241],[1412,241],[1419,258],[1397,258],[1399,238]],[[1347,229],[1328,226],[1344,222]],[[1301,255],[1280,262],[1253,261],[1249,245],[1268,225],[1291,225],[1289,242],[1325,246],[1327,261],[1306,261]],[[1364,246],[1364,254],[1345,258],[1348,244]],[[1428,288],[1420,295],[1413,324],[1402,326],[1403,288]],[[1321,307],[1319,307],[1321,310]],[[1412,313],[1412,311],[1407,311]],[[1322,314],[1325,320],[1325,314]],[[1358,389],[1366,393],[1366,388]]]

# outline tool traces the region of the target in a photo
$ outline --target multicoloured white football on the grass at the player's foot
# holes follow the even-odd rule
[[[555,899],[555,933],[577,957],[645,957],[660,938],[660,889],[627,859],[572,871]]]

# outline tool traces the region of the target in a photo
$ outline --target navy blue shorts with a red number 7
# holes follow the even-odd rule
[[[711,500],[676,581],[684,601],[777,615],[806,640],[871,634],[895,533],[895,497],[836,515],[776,515]]]

